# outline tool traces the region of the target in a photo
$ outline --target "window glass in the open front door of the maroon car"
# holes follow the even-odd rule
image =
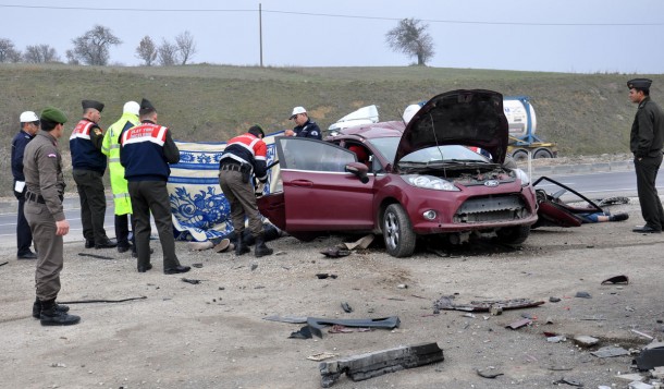
[[[355,153],[328,142],[299,137],[279,142],[284,154],[282,169],[344,172],[346,165],[356,161]]]

